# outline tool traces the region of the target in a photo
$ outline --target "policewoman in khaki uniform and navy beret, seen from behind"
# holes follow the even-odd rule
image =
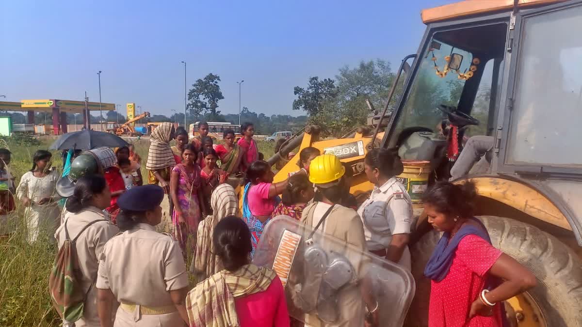
[[[115,327],[185,326],[188,277],[180,246],[155,231],[162,219],[164,190],[137,186],[118,200],[123,232],[105,244],[97,276],[102,327],[111,327],[111,303],[119,301]]]

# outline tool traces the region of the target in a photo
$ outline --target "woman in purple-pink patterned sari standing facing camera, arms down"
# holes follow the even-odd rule
[[[196,231],[205,202],[202,191],[201,169],[196,163],[198,153],[191,144],[184,146],[182,163],[174,166],[170,180],[170,194],[174,204],[172,223],[176,239],[184,255],[196,244]]]

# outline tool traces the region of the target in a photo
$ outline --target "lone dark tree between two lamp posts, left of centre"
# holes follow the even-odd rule
[[[196,83],[192,84],[192,88],[188,92],[189,103],[187,105],[192,115],[209,115],[212,120],[218,117],[220,113],[217,110],[218,101],[224,98],[218,85],[219,81],[218,75],[210,73],[204,79],[198,79]]]

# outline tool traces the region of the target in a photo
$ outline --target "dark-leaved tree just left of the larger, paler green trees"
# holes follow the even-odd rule
[[[315,118],[325,110],[329,103],[338,94],[335,81],[324,79],[320,81],[317,76],[310,77],[307,88],[296,86],[293,94],[297,99],[293,100],[293,110],[303,110],[312,118]]]

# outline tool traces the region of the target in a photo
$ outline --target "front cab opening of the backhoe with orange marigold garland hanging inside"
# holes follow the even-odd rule
[[[431,130],[446,134],[449,116],[439,107],[448,106],[479,121],[462,129],[464,140],[492,135],[495,126],[496,86],[505,56],[506,23],[454,29],[435,33],[416,59],[409,95],[399,108],[392,140],[402,140],[405,130]],[[452,60],[455,57],[455,61]],[[460,62],[459,62],[460,58]],[[455,63],[455,65],[449,64]],[[456,69],[447,69],[456,67]]]

